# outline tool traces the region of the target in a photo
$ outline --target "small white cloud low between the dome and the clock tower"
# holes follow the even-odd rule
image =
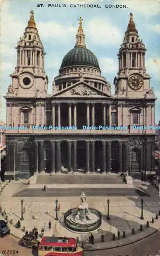
[[[99,59],[99,63],[103,73],[118,72],[118,62],[113,58],[102,57]]]

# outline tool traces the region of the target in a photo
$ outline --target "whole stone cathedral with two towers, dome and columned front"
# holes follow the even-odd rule
[[[34,13],[17,43],[17,65],[6,98],[7,179],[48,173],[154,174],[155,97],[145,68],[145,45],[132,14],[111,84],[85,45],[82,18],[74,48],[47,94],[45,52]]]

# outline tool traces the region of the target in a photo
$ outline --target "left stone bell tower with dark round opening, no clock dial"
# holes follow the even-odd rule
[[[7,96],[44,97],[47,94],[48,78],[44,71],[44,49],[34,20],[30,20],[23,37],[17,43],[17,65],[11,74],[12,84]]]

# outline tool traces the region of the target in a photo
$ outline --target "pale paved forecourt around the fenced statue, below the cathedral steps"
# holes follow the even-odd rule
[[[68,188],[69,185],[69,188]],[[33,188],[35,186],[35,188]],[[71,187],[73,186],[73,187]],[[95,185],[93,185],[95,186]],[[113,188],[113,186],[115,188]],[[156,231],[157,228],[160,227],[160,219],[155,220],[153,224],[149,223],[150,227],[146,228],[146,221],[151,221],[151,218],[155,217],[155,214],[158,213],[160,209],[160,200],[158,191],[153,188],[152,185],[135,181],[133,185],[126,185],[126,184],[98,184],[96,185],[97,191],[102,191],[101,189],[106,190],[108,193],[102,194],[103,196],[96,196],[95,187],[89,188],[89,184],[48,184],[47,191],[42,191],[43,184],[34,184],[28,185],[26,181],[12,181],[7,185],[5,190],[2,192],[1,195],[1,202],[3,209],[6,208],[7,214],[9,216],[9,221],[12,219],[13,224],[10,224],[10,228],[12,233],[14,233],[17,237],[22,237],[24,232],[21,228],[25,227],[29,231],[32,230],[34,226],[38,228],[39,234],[41,233],[41,228],[46,223],[46,231],[44,235],[52,236],[70,236],[70,237],[79,237],[81,241],[86,241],[88,239],[88,234],[79,234],[74,233],[67,230],[63,225],[63,214],[69,208],[77,207],[79,203],[79,197],[81,196],[82,191],[86,191],[86,202],[90,207],[98,209],[102,214],[102,225],[99,230],[93,232],[94,233],[94,240],[95,244],[89,245],[88,243],[84,243],[85,248],[90,249],[98,249],[98,248],[109,248],[111,246],[115,247],[118,245],[126,244],[129,242],[136,241],[137,239],[144,238],[148,236],[148,234]],[[73,188],[72,192],[76,192],[66,196],[68,189]],[[27,194],[22,194],[22,191],[34,191],[33,196],[28,196]],[[34,189],[34,190],[32,190]],[[40,189],[40,190],[36,190]],[[55,189],[54,193],[51,196],[47,196],[49,193],[49,189]],[[60,189],[63,190],[62,193],[56,193],[56,190]],[[86,190],[89,189],[89,190]],[[87,195],[92,191],[92,195]],[[109,190],[115,189],[116,195],[109,194]],[[133,191],[132,189],[137,189],[141,191],[142,194],[133,193],[125,194],[125,196],[117,196],[119,195],[119,189],[123,189],[125,191]],[[36,191],[41,191],[41,197],[37,197]],[[52,190],[53,191],[53,190]],[[18,196],[18,193],[19,196]],[[65,194],[66,193],[66,194]],[[16,197],[14,195],[17,195]],[[98,194],[99,195],[99,194]],[[141,220],[141,197],[143,197],[144,204],[143,204],[143,215],[144,220]],[[25,213],[24,213],[24,220],[21,221],[21,228],[15,228],[15,224],[18,219],[21,217],[21,204],[20,201],[23,199],[25,206]],[[61,210],[58,212],[59,220],[56,221],[56,212],[55,212],[55,201],[58,199]],[[108,211],[108,205],[106,201],[110,199],[110,220],[106,220],[106,215]],[[12,208],[12,215],[9,214],[10,209]],[[33,217],[36,218],[34,219]],[[3,219],[3,217],[1,217]],[[48,229],[48,222],[51,221],[51,229]],[[139,231],[140,224],[143,225],[144,231]],[[135,228],[136,234],[134,236],[131,235],[132,228]],[[122,232],[126,232],[126,238],[112,241],[112,234],[115,233],[117,236],[117,232],[120,231],[121,237]],[[104,243],[100,242],[101,234],[104,234]],[[39,236],[39,239],[41,237]],[[100,246],[100,247],[99,247]]]

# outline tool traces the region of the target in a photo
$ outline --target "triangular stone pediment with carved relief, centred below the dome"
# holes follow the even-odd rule
[[[84,81],[79,81],[59,92],[54,97],[111,97],[111,95],[90,86]]]

